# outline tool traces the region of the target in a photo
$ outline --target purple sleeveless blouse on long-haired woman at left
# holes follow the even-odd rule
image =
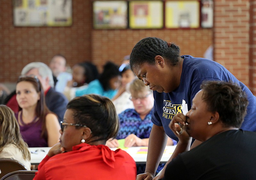
[[[15,113],[15,117],[18,121],[18,113]],[[40,119],[36,122],[25,124],[24,126],[20,125],[20,134],[28,144],[28,147],[48,147],[47,139],[42,138],[41,133],[42,121]]]

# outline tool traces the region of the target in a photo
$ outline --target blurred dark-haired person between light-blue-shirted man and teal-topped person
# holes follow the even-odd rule
[[[83,90],[88,83],[98,78],[97,67],[90,62],[82,62],[72,67],[73,79],[68,81],[63,94],[70,101],[75,98],[76,90]]]

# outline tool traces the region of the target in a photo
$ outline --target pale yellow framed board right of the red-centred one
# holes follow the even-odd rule
[[[197,0],[165,1],[165,27],[200,27],[200,2]]]

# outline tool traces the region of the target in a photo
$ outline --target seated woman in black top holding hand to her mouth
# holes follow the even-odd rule
[[[179,142],[164,180],[256,178],[256,133],[239,129],[246,97],[233,82],[202,83],[186,116],[177,114],[169,124]],[[192,137],[203,143],[189,151]]]

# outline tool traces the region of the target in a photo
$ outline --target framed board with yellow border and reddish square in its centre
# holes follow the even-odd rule
[[[138,28],[162,28],[164,26],[163,1],[129,2],[129,26]]]

